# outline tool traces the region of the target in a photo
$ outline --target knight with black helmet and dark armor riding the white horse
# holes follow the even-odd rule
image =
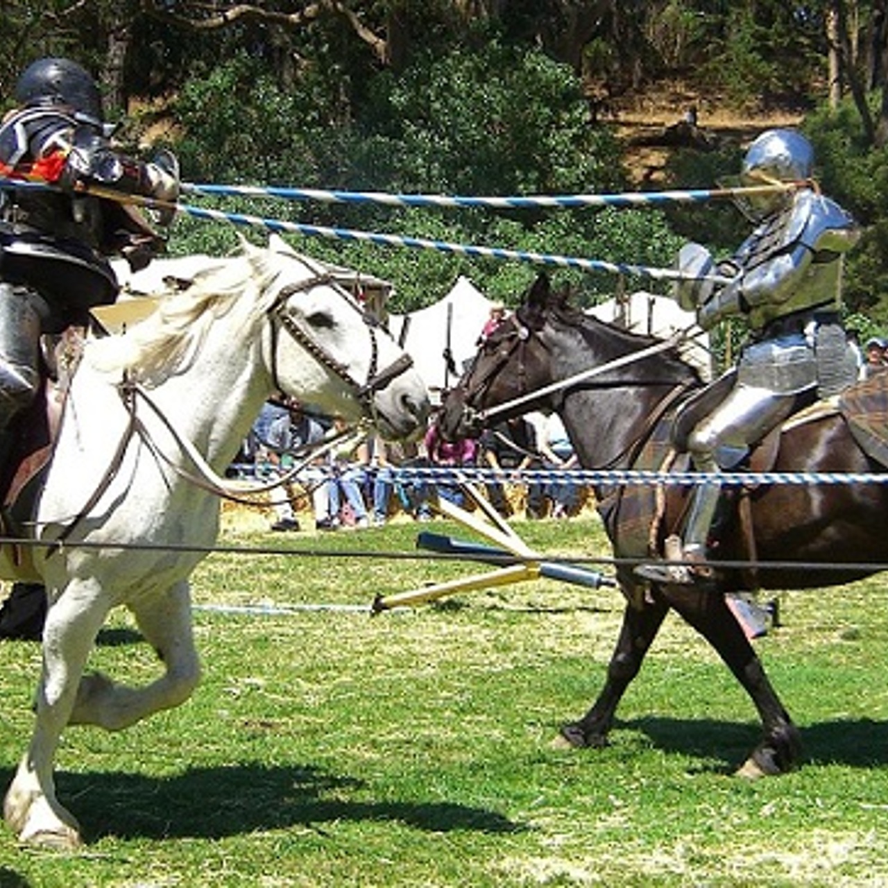
[[[74,61],[32,63],[15,99],[0,123],[0,439],[36,393],[41,335],[85,326],[93,306],[115,301],[109,256],[138,269],[163,248],[137,210],[89,189],[178,197],[172,155],[142,163],[111,146],[99,88]]]

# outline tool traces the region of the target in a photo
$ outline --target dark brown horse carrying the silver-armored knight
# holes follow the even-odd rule
[[[613,369],[552,390],[559,381],[604,365]],[[543,387],[550,391],[527,399]],[[534,408],[558,412],[584,468],[661,469],[671,459],[678,469],[686,466],[686,458],[683,462],[671,447],[674,411],[702,387],[696,371],[681,360],[675,347],[657,345],[657,340],[571,308],[564,297],[551,293],[543,276],[519,310],[481,346],[445,400],[439,423],[451,438],[476,434],[488,418],[493,421],[486,411],[524,397],[497,419]],[[770,436],[754,451],[751,468],[884,471],[861,450],[850,430],[840,412],[821,411]],[[761,718],[764,736],[741,773],[787,771],[800,754],[798,730],[728,609],[724,592],[810,588],[872,573],[868,564],[888,560],[884,533],[888,488],[884,484],[769,484],[741,491],[736,485],[726,487],[718,522],[718,591],[675,585],[647,588],[633,575],[631,559],[650,559],[662,551],[664,537],[680,527],[687,487],[596,488],[614,556],[618,563],[623,561],[617,573],[629,603],[598,700],[561,733],[576,747],[607,742],[622,694],[673,608],[718,651]],[[769,568],[769,561],[781,564]],[[750,562],[757,567],[747,567]],[[837,564],[848,567],[830,569]]]

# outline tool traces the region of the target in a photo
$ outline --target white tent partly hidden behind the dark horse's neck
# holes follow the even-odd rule
[[[679,330],[687,331],[681,345],[685,360],[700,370],[704,380],[712,377],[710,337],[698,326],[694,312],[686,312],[675,299],[643,290],[622,299],[609,299],[586,312],[599,321],[618,324],[633,333],[667,339]]]

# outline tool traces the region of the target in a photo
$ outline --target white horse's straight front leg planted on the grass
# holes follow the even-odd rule
[[[21,842],[66,849],[80,844],[77,821],[56,798],[53,761],[107,610],[99,583],[72,581],[46,615],[34,733],[4,800],[4,819]]]

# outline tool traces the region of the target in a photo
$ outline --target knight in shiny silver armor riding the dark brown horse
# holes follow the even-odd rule
[[[812,172],[813,149],[803,135],[765,131],[743,159],[741,184],[788,187],[744,196],[741,209],[755,228],[732,258],[713,261],[695,243],[679,251],[680,305],[695,310],[706,330],[730,317],[745,318],[749,327],[725,398],[687,437],[700,472],[740,466],[792,413],[800,393],[829,397],[858,378],[839,312],[843,256],[860,230],[813,186]],[[683,538],[667,539],[667,560],[638,567],[638,575],[659,583],[710,582],[711,568],[695,562],[709,556],[720,496],[717,483],[695,486]]]

